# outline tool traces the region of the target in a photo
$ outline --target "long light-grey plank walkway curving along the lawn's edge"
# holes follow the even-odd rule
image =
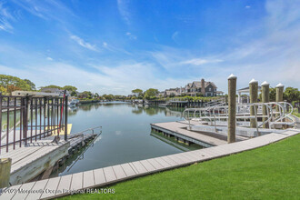
[[[299,133],[300,130],[287,129],[282,134],[263,135],[233,144],[217,145],[191,152],[165,155],[122,165],[98,168],[73,175],[63,175],[23,185],[15,185],[9,187],[11,193],[3,193],[0,195],[0,199],[47,199],[69,195],[72,190],[85,190],[87,188],[110,185],[141,175],[153,174],[183,165],[191,165],[195,162],[203,162],[225,155],[236,154],[269,145]],[[23,193],[17,192],[21,190],[23,190]],[[32,191],[37,192],[33,193]],[[43,193],[43,191],[45,192]]]

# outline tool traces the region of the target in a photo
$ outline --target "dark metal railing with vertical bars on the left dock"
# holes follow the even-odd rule
[[[59,96],[18,96],[0,93],[0,154],[65,130],[67,109]],[[62,109],[63,107],[63,109]],[[59,127],[60,125],[60,127]]]

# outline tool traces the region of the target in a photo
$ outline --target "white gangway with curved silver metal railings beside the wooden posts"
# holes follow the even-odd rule
[[[251,109],[254,110],[254,115],[250,115]],[[263,109],[265,109],[265,115]],[[277,132],[275,128],[282,128],[284,125],[294,126],[295,123],[285,121],[292,112],[293,105],[287,102],[237,104],[236,134],[257,136],[271,131]],[[225,101],[218,101],[215,102],[215,105],[203,108],[186,108],[183,116],[188,122],[190,130],[224,134],[227,132],[228,105],[225,105]],[[250,121],[254,122],[255,128],[250,128]],[[194,122],[193,125],[191,122]],[[263,128],[264,125],[267,125],[268,128]]]

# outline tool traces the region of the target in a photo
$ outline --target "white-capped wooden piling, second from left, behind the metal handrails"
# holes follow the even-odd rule
[[[250,93],[250,104],[257,103],[257,94],[258,94],[258,81],[255,79],[252,79],[249,82],[249,93]],[[255,111],[256,110],[256,111]],[[257,106],[251,106],[250,107],[250,115],[255,116],[255,113],[257,112]],[[255,128],[256,127],[256,119],[251,118],[250,119],[250,127]]]

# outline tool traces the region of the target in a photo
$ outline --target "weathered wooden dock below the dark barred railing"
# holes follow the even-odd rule
[[[52,142],[54,136],[50,136],[28,145],[16,146],[15,150],[10,146],[9,152],[1,154],[0,158],[12,158],[10,184],[18,185],[32,180],[47,170],[50,175],[52,167],[59,160],[74,154],[94,137],[93,134],[69,135],[67,142],[61,140],[55,144]]]

